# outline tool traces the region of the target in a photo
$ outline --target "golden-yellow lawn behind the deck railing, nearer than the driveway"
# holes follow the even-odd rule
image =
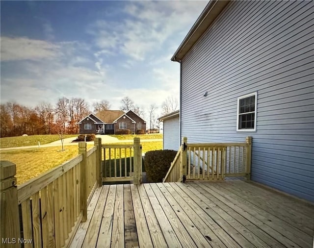
[[[87,144],[87,149],[91,147],[93,147],[93,144]],[[22,184],[78,155],[78,146],[65,146],[65,149],[66,151],[61,152],[59,151],[60,146],[56,146],[40,149],[2,150],[0,158],[1,160],[9,160],[16,164],[17,184]],[[142,152],[158,149],[162,149],[161,141],[143,142],[142,144]]]

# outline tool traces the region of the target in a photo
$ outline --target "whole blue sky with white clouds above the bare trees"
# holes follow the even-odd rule
[[[170,59],[208,1],[0,1],[0,101],[179,99]]]

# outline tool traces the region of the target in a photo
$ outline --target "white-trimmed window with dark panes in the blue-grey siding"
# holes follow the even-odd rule
[[[256,110],[257,92],[237,99],[237,131],[256,131]]]

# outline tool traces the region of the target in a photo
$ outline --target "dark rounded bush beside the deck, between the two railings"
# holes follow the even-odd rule
[[[145,153],[145,170],[148,182],[162,182],[177,154],[175,150],[153,150]]]

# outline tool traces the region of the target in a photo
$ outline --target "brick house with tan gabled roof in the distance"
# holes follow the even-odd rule
[[[146,130],[146,122],[129,110],[104,110],[96,114],[89,114],[79,123],[80,134],[116,134],[118,130],[129,129],[136,133],[138,129]]]

